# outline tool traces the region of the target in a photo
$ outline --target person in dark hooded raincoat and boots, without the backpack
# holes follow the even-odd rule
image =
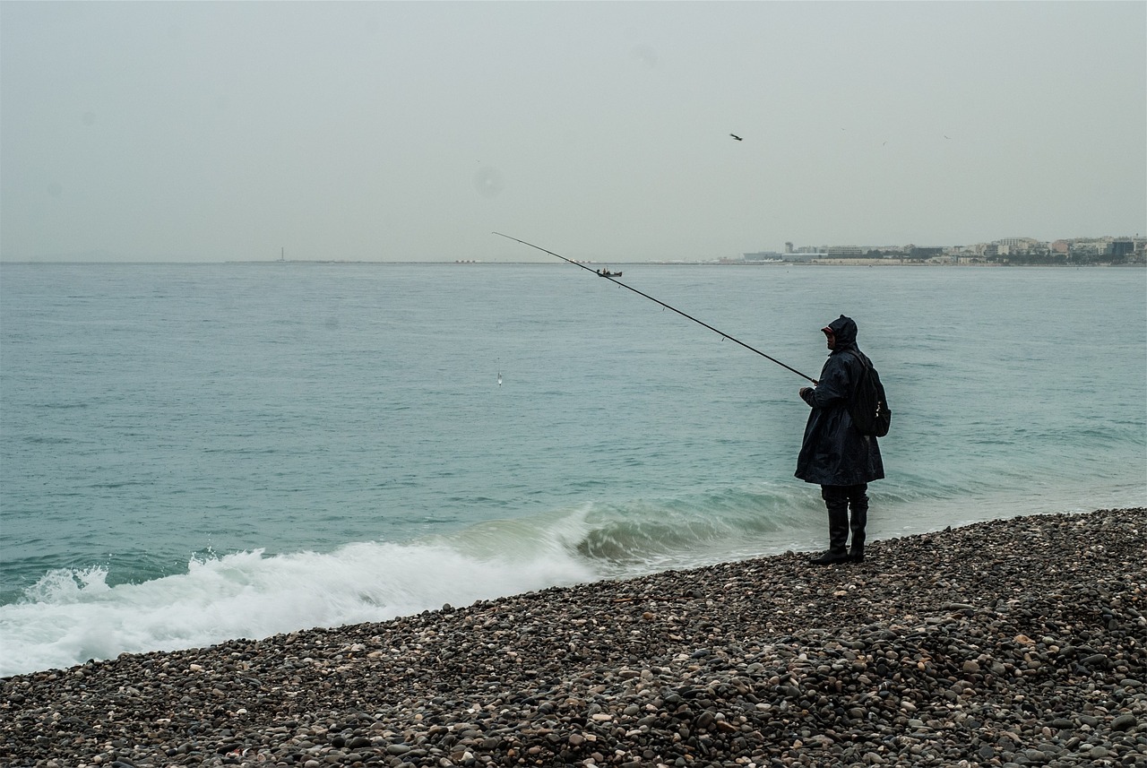
[[[872,362],[857,348],[857,324],[851,318],[841,315],[820,330],[832,352],[817,386],[801,389],[801,398],[812,407],[812,413],[796,461],[796,477],[819,484],[828,507],[828,549],[810,562],[860,563],[868,522],[868,483],[884,477],[884,464],[876,438],[856,428],[848,405],[865,366]]]

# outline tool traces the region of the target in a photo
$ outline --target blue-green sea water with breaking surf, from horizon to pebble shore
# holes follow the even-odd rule
[[[1147,506],[1142,269],[624,273],[812,377],[856,319],[869,539]],[[0,675],[822,548],[804,384],[561,262],[3,264]]]

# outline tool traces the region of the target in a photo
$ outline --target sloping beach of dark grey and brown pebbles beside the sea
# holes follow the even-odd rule
[[[2,680],[0,763],[1147,766],[1147,510]]]

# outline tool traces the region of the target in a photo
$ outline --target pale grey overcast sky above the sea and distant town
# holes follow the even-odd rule
[[[1145,33],[1138,1],[5,1],[0,258],[1147,234]]]

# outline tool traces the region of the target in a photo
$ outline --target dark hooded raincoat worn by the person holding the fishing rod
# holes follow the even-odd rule
[[[841,315],[828,324],[836,338],[816,389],[802,397],[812,407],[804,428],[804,442],[796,460],[796,477],[820,485],[860,485],[884,477],[876,438],[852,425],[848,399],[864,363],[857,360],[857,324]]]

